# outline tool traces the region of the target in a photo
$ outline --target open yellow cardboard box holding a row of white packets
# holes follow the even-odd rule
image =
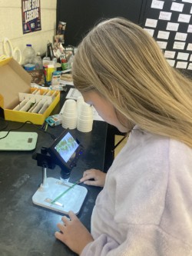
[[[12,109],[19,103],[19,92],[31,93],[32,91],[34,91],[34,88],[31,88],[31,75],[18,62],[13,58],[0,61],[0,107],[4,110],[5,120],[31,121],[36,125],[44,123],[45,118],[51,114],[51,111],[58,104],[60,92],[57,91],[56,97],[43,114],[13,111]],[[52,91],[52,93],[54,92]]]

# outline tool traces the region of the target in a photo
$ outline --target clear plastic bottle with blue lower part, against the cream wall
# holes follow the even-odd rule
[[[23,51],[24,68],[27,71],[35,69],[35,50],[31,44],[26,45]]]

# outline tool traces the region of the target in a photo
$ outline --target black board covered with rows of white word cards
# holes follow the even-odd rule
[[[192,0],[147,2],[144,29],[172,67],[192,70]]]

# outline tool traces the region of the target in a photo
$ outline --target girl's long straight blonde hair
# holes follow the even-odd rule
[[[140,128],[192,147],[192,83],[140,26],[124,18],[95,26],[78,46],[72,74],[79,91],[94,89]]]

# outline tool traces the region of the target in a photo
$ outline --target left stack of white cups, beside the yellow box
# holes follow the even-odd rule
[[[78,112],[76,101],[68,99],[62,113],[62,127],[67,129],[77,128]]]

